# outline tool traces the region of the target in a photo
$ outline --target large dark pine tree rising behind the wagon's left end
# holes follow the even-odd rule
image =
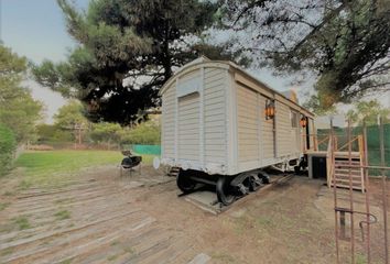
[[[57,0],[78,42],[67,62],[44,62],[36,80],[76,97],[93,121],[131,123],[160,103],[158,91],[173,70],[199,54],[231,58],[198,37],[212,26],[217,3],[201,0],[96,0],[85,13]]]

